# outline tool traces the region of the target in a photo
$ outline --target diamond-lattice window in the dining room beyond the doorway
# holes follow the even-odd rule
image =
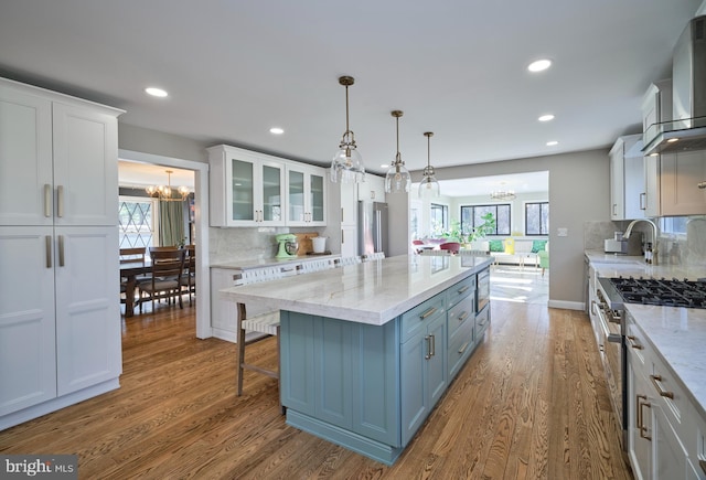
[[[154,204],[152,199],[120,196],[120,248],[146,247],[157,244],[154,238]]]

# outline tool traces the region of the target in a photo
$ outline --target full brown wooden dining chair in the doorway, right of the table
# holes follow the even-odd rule
[[[150,248],[152,267],[150,279],[139,284],[140,288],[140,312],[145,301],[152,301],[154,310],[154,299],[167,299],[170,302],[179,299],[179,308],[184,308],[181,289],[184,274],[184,252],[183,249],[157,249]],[[147,297],[145,297],[145,295]]]

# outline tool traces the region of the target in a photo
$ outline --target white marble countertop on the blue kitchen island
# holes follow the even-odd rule
[[[382,326],[456,282],[490,266],[492,258],[400,255],[229,287],[221,296],[246,306]]]

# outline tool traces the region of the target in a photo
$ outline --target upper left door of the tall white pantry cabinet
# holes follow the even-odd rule
[[[51,131],[50,100],[0,84],[0,225],[54,222]]]

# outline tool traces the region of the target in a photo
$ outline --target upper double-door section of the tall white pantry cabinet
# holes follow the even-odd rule
[[[0,83],[0,225],[116,225],[116,110]]]

